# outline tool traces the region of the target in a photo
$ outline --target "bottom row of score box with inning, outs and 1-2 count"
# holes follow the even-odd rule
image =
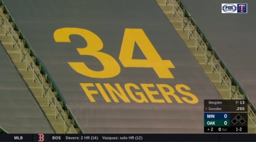
[[[204,127],[204,133],[247,133],[248,127]]]

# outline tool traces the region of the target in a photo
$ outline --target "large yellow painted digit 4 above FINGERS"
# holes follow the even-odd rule
[[[146,59],[132,59],[135,42]],[[174,65],[170,60],[162,60],[142,29],[125,29],[119,60],[124,67],[153,68],[159,78],[174,78],[169,70]]]

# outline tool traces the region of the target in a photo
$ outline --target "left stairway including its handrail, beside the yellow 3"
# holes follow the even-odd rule
[[[0,16],[1,43],[11,61],[18,69],[18,72],[30,88],[34,98],[39,103],[55,133],[76,134],[76,129],[71,124],[71,120],[68,119],[60,102],[56,100],[54,93],[49,89],[49,85],[41,75],[39,67],[33,63],[33,57],[29,56],[24,43],[18,38],[18,34],[13,30],[13,23],[8,22],[2,8],[0,8]],[[11,33],[13,35],[11,35]]]

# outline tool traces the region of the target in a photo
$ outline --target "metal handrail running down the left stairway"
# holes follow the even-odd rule
[[[18,39],[16,40],[15,37],[14,37],[14,34],[13,34],[13,28],[10,28],[10,31],[8,30],[8,28],[6,28],[6,20],[8,21],[8,19],[6,17],[2,17],[0,16],[3,21],[4,21],[4,28],[5,28],[5,35],[7,34],[10,34],[11,35],[11,45],[14,47],[14,45],[16,44],[18,46],[18,49],[19,49],[19,52],[20,52],[20,62],[26,62],[26,70],[28,69],[32,69],[32,73],[33,73],[33,82],[37,79],[40,83],[40,86],[42,87],[42,97],[44,97],[43,93],[44,93],[44,90],[48,92],[48,107],[50,107],[49,105],[49,100],[51,101],[52,104],[54,104],[54,107],[55,107],[55,119],[57,119],[57,115],[61,116],[61,120],[63,121],[64,123],[64,132],[66,133],[66,125],[68,126],[69,128],[69,132],[71,132],[71,127],[73,127],[71,124],[68,124],[66,122],[66,116],[65,116],[65,111],[62,109],[62,105],[60,105],[59,101],[57,101],[56,97],[54,96],[53,92],[50,90],[50,88],[44,88],[44,85],[43,85],[43,76],[39,73],[37,74],[36,73],[36,70],[34,69],[35,67],[37,68],[37,65],[34,64],[31,56],[28,54],[28,52],[24,52],[22,51],[22,47],[21,47],[21,41],[20,41],[20,44],[18,43]],[[1,22],[1,21],[0,21]],[[8,22],[7,22],[8,23]],[[10,25],[10,23],[9,23]],[[2,25],[1,25],[2,26]],[[10,25],[11,27],[11,25]],[[17,34],[16,34],[17,35]],[[15,42],[13,42],[15,41]],[[25,60],[22,60],[22,54],[25,56]],[[29,60],[31,61],[31,65],[30,63],[28,62],[28,59],[27,57],[29,57]],[[39,70],[39,69],[38,69]],[[36,78],[35,78],[36,77]],[[40,79],[41,78],[41,79]],[[50,90],[50,91],[49,91]],[[51,98],[49,97],[49,92],[51,92],[52,96],[53,96],[53,99],[54,99],[54,102],[51,100]],[[64,116],[62,116],[61,112],[57,109],[57,105],[59,105],[59,107],[61,108],[61,111],[64,112]],[[76,132],[75,128],[73,127],[74,129],[74,132]],[[77,132],[76,132],[77,133]]]

